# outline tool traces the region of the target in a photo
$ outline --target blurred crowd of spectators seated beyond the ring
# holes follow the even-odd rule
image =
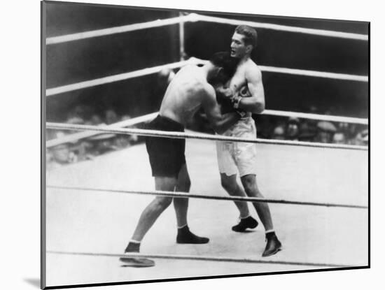
[[[71,110],[64,122],[67,124],[100,126],[114,124],[127,119],[130,119],[129,115],[120,116],[113,108],[109,108],[100,114],[92,113],[89,107],[76,106]],[[367,145],[368,142],[367,126],[360,124],[269,115],[256,115],[255,121],[258,138],[349,145]],[[144,124],[139,124],[138,126],[143,127]],[[209,123],[202,112],[196,115],[188,125],[188,129],[211,132]],[[48,130],[48,140],[76,132]],[[48,148],[47,161],[50,166],[57,166],[58,164],[93,159],[99,154],[123,149],[141,143],[142,140],[143,138],[136,135],[102,133],[83,140],[74,140],[73,143],[69,142]]]

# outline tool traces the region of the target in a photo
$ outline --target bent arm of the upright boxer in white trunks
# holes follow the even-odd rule
[[[265,92],[262,84],[262,73],[258,67],[251,67],[245,73],[248,92],[251,96],[241,98],[238,108],[247,112],[260,114],[265,110]]]

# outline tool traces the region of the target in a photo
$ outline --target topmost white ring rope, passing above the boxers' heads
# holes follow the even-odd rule
[[[330,36],[330,37],[337,37],[337,38],[349,38],[349,39],[356,39],[360,41],[368,41],[369,39],[366,34],[353,34],[348,32],[330,31],[330,30],[324,30],[324,29],[309,29],[309,28],[303,28],[303,27],[292,27],[287,25],[279,25],[279,24],[271,24],[271,23],[260,23],[260,22],[252,22],[252,21],[245,21],[245,20],[233,20],[228,18],[212,17],[212,16],[191,13],[190,15],[172,17],[172,18],[163,19],[163,20],[154,20],[150,22],[141,22],[136,24],[123,25],[120,27],[111,27],[106,29],[84,31],[77,34],[66,34],[63,36],[48,37],[46,38],[45,43],[47,45],[55,44],[55,43],[64,43],[68,41],[77,41],[85,38],[107,36],[111,34],[120,34],[123,32],[135,31],[139,29],[148,29],[153,27],[162,27],[162,26],[171,25],[171,24],[179,24],[181,22],[183,23],[183,22],[197,22],[197,21],[215,22],[215,23],[232,24],[232,25],[246,24],[251,27],[258,27],[262,29],[273,29],[278,31],[288,31],[288,32],[301,33],[301,34],[313,34],[318,36]]]

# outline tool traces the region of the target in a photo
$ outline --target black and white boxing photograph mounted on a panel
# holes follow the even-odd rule
[[[370,268],[370,22],[41,1],[41,287]]]

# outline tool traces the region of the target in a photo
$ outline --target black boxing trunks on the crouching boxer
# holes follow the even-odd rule
[[[184,126],[172,119],[158,115],[146,129],[184,132]],[[151,170],[156,177],[178,177],[186,164],[185,139],[146,137],[146,148]]]

